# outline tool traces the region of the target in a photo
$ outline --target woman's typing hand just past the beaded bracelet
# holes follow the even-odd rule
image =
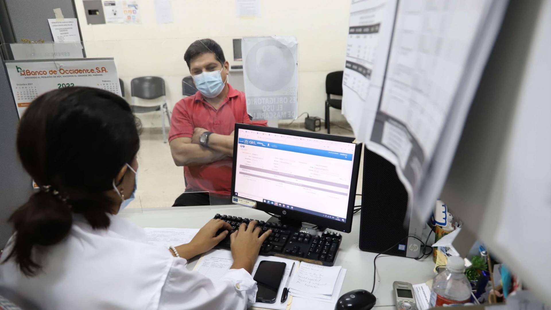
[[[212,219],[208,221],[205,226],[203,226],[195,237],[191,239],[190,243],[182,244],[179,247],[176,247],[176,250],[181,257],[185,259],[190,259],[193,256],[203,254],[208,250],[214,248],[215,245],[224,240],[228,236],[229,231],[224,230],[217,236],[219,229],[228,229],[231,230],[231,225],[228,223],[217,219]]]

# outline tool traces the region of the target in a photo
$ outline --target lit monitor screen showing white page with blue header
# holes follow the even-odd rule
[[[346,222],[354,143],[247,129],[236,139],[236,196]]]

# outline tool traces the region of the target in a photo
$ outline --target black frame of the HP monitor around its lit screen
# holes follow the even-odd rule
[[[232,165],[232,172],[231,172],[231,196],[232,197],[235,196],[235,175],[236,175],[236,169],[237,169],[237,147],[238,147],[237,142],[239,141],[238,137],[239,137],[240,129],[277,133],[281,135],[315,138],[315,139],[322,139],[322,140],[328,140],[328,141],[355,143],[354,137],[335,136],[335,135],[327,135],[326,133],[297,131],[297,130],[290,130],[290,129],[280,129],[280,128],[274,128],[274,127],[264,127],[264,126],[236,123],[235,132],[234,132],[234,135],[235,135],[234,136],[234,156],[233,156],[233,165]],[[256,200],[255,200],[256,206],[254,206],[253,208],[260,211],[270,212],[276,215],[292,218],[293,220],[296,220],[296,221],[311,223],[319,227],[326,227],[326,228],[334,229],[336,231],[349,233],[350,231],[352,231],[352,220],[354,216],[353,212],[354,212],[354,205],[356,200],[356,186],[358,186],[360,157],[361,157],[361,143],[355,143],[354,158],[353,158],[353,164],[352,164],[352,176],[351,176],[352,179],[350,180],[348,210],[347,210],[347,218],[345,222],[339,222],[329,218],[310,215],[308,213],[303,213],[300,211],[282,209],[280,207],[276,207],[271,204],[269,205],[269,204],[266,204],[265,202],[256,201]],[[232,199],[232,202],[233,202],[233,199]]]

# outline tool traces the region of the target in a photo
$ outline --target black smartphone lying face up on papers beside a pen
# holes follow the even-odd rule
[[[279,291],[286,265],[280,261],[269,260],[263,260],[258,264],[255,276],[253,277],[258,286],[256,302],[276,302],[277,292]]]

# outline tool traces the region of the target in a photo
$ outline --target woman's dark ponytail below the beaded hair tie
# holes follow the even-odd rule
[[[52,245],[60,242],[71,230],[73,217],[67,202],[53,193],[40,191],[13,212],[8,222],[15,231],[13,249],[6,260],[13,257],[21,271],[32,276],[40,269],[34,260],[35,245]]]

